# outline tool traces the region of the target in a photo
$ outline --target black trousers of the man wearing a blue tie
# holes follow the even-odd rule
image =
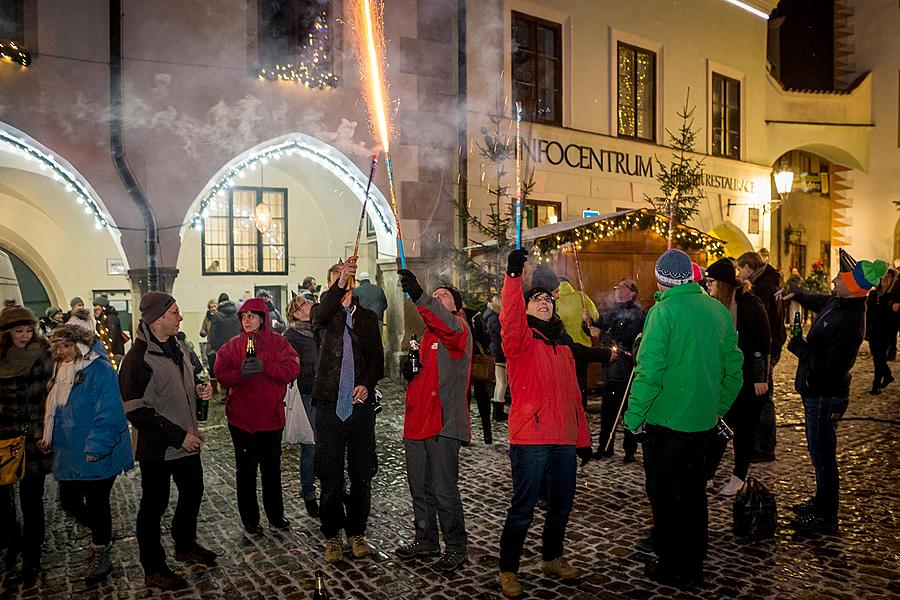
[[[350,493],[344,493],[344,461]],[[369,403],[354,404],[353,414],[341,421],[334,402],[316,402],[316,472],[322,497],[319,515],[326,539],[341,530],[347,537],[363,535],[372,508],[372,478],[378,471],[375,455],[375,412]]]

